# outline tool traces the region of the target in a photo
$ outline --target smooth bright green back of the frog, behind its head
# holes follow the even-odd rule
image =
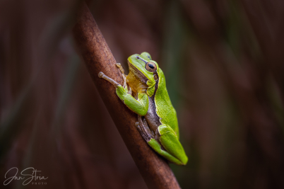
[[[162,69],[158,69],[159,87],[155,93],[155,104],[158,116],[161,118],[162,125],[171,127],[179,138],[179,126],[177,123],[177,113],[172,106],[167,87],[165,84],[165,75]]]

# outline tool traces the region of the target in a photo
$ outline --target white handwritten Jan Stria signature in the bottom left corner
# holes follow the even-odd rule
[[[29,167],[29,168],[25,168],[22,172],[20,172],[21,176],[17,176],[18,174],[18,168],[13,167],[10,168],[6,174],[5,174],[5,178],[7,176],[7,173],[10,172],[11,170],[16,169],[16,173],[14,176],[11,176],[9,178],[7,178],[4,181],[4,185],[8,185],[8,183],[11,183],[11,181],[13,180],[24,180],[23,181],[23,185],[27,185],[28,183],[30,183],[32,180],[37,181],[37,180],[47,180],[48,177],[44,177],[44,176],[37,176],[37,173],[41,172],[41,171],[37,171],[37,169],[33,168],[33,167]],[[30,174],[30,172],[32,172]]]

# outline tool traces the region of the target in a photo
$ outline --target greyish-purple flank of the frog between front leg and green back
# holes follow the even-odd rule
[[[145,118],[147,120],[148,126],[150,127],[150,130],[153,130],[153,132],[155,133],[157,128],[162,125],[162,123],[160,122],[160,118],[155,111],[155,103],[153,97],[154,96],[151,96],[149,98],[149,108],[147,114],[145,115]]]

